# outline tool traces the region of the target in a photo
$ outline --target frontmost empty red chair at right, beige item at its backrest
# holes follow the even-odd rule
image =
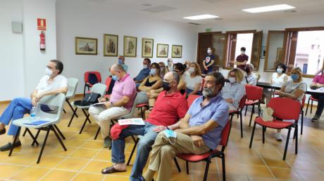
[[[292,128],[294,129],[294,137],[295,141],[295,154],[298,151],[298,119],[301,110],[301,105],[299,101],[292,100],[289,98],[272,98],[268,104],[268,107],[274,110],[273,112],[273,121],[263,121],[261,117],[256,117],[254,120],[254,126],[252,130],[251,140],[249,148],[252,147],[254,131],[256,130],[256,124],[262,126],[262,142],[264,143],[264,132],[266,128],[273,129],[288,129],[287,141],[285,145],[285,152],[283,155],[283,160],[286,159],[287,147],[289,142],[290,131]],[[289,107],[289,109],[287,109]],[[282,120],[294,120],[294,123]]]

